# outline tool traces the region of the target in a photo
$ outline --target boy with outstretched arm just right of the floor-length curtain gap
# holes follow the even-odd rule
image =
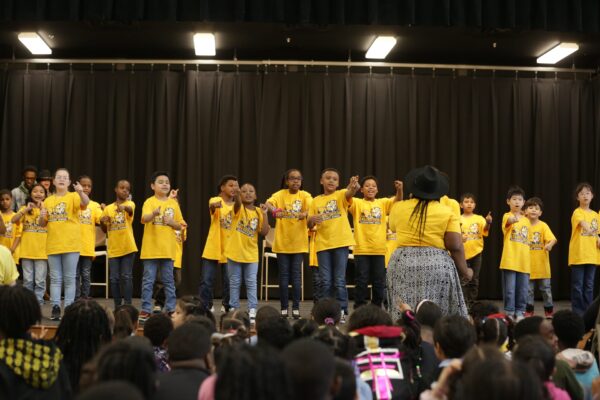
[[[219,195],[208,200],[210,211],[210,229],[204,252],[202,253],[202,283],[200,298],[204,306],[211,311],[213,308],[213,285],[219,264],[221,265],[221,281],[223,284],[223,306],[221,311],[229,311],[229,278],[227,277],[227,258],[225,245],[231,234],[234,196],[239,190],[238,180],[233,175],[221,178],[217,188]]]

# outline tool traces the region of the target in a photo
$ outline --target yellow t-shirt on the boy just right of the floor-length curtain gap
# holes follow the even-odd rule
[[[220,196],[212,197],[208,204],[221,202],[221,208],[215,208],[210,216],[210,228],[204,245],[202,258],[207,260],[218,260],[219,263],[227,262],[225,257],[225,245],[231,234],[231,222],[233,220],[233,203],[227,204]]]

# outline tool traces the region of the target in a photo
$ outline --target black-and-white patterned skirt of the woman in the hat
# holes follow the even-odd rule
[[[431,300],[443,315],[467,317],[458,271],[447,251],[435,247],[399,247],[387,268],[387,293],[394,321],[399,304],[413,309],[421,300]]]

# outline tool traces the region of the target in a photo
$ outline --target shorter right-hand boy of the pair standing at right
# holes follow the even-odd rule
[[[556,244],[556,237],[548,224],[540,220],[544,204],[538,197],[532,197],[525,202],[525,215],[531,224],[529,231],[529,248],[531,249],[531,274],[529,275],[529,295],[525,316],[534,314],[534,290],[537,283],[544,300],[546,318],[552,318],[554,304],[552,303],[552,288],[550,287],[550,250]]]

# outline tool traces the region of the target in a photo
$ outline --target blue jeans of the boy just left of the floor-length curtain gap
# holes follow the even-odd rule
[[[167,312],[175,311],[175,279],[173,278],[173,260],[170,258],[153,258],[144,260],[142,276],[142,311],[152,311],[152,289],[156,281],[156,273],[160,270],[160,280],[165,286],[165,308]]]

